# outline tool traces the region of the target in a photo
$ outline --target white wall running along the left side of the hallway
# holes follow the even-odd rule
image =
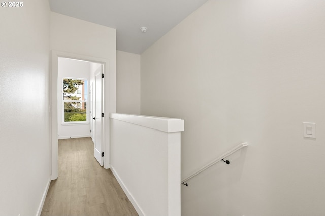
[[[49,4],[0,18],[0,215],[36,215],[50,180]]]

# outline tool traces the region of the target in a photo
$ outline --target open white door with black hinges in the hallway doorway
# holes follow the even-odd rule
[[[95,112],[93,113],[93,127],[94,127],[94,154],[96,160],[101,166],[103,166],[102,152],[104,150],[103,139],[102,139],[102,129],[103,129],[103,106],[102,106],[102,87],[103,87],[103,78],[102,78],[102,69],[95,75]]]

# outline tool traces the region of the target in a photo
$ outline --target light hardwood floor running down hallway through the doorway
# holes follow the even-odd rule
[[[94,158],[91,138],[59,140],[58,161],[42,216],[138,215],[112,171]]]

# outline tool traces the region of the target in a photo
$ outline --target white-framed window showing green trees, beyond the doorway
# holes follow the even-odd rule
[[[64,122],[87,121],[88,80],[63,78]]]

